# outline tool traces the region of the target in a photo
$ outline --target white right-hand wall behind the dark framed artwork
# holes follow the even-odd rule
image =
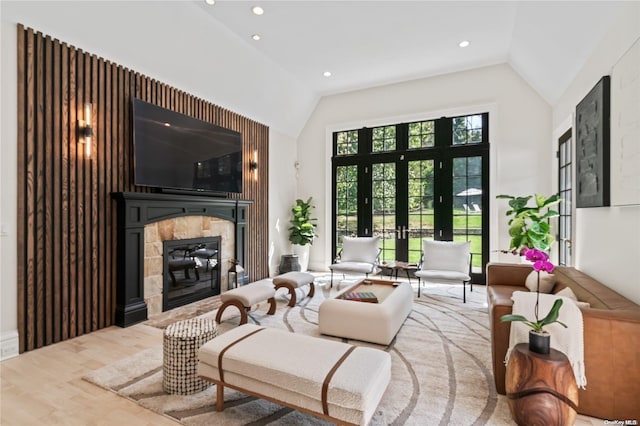
[[[616,24],[553,107],[554,128],[575,112],[602,76],[611,75],[614,65],[640,37],[640,3],[625,2],[620,7]],[[611,164],[612,170],[615,167]],[[577,209],[575,216],[575,266],[640,303],[640,205]]]

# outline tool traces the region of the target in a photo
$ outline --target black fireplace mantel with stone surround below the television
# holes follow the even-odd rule
[[[227,288],[230,260],[246,264],[250,201],[138,192],[112,196],[118,206],[117,325],[128,327],[163,311],[164,241],[219,237],[220,291]]]

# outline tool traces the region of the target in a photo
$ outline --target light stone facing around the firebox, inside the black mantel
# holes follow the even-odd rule
[[[228,287],[227,272],[234,258],[233,222],[207,216],[185,216],[154,222],[144,227],[144,300],[148,317],[162,313],[162,242],[187,238],[221,239],[220,290]]]

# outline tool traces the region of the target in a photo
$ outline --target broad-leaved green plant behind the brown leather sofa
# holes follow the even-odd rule
[[[508,222],[509,236],[511,237],[509,250],[517,253],[523,247],[527,247],[549,253],[555,238],[551,235],[548,220],[559,216],[557,211],[550,209],[550,206],[558,204],[560,197],[557,194],[550,197],[535,194],[527,197],[498,195],[496,198],[508,199],[509,207],[511,207],[506,213],[510,217]],[[532,198],[535,206],[528,206],[527,204]]]

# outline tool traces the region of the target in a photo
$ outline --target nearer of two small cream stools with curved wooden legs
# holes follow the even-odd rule
[[[253,305],[264,302],[265,300],[270,304],[267,314],[273,315],[276,313],[275,295],[276,290],[271,280],[255,281],[242,287],[225,291],[220,295],[222,306],[220,306],[216,314],[216,322],[218,324],[220,323],[222,313],[225,309],[229,306],[235,306],[240,311],[240,324],[246,324],[247,312],[251,310]]]

